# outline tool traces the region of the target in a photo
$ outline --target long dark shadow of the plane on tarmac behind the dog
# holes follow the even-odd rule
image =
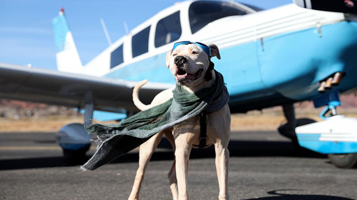
[[[174,153],[170,142],[163,138],[159,148],[167,149],[155,152],[151,160],[173,160]],[[228,149],[230,157],[307,157],[307,158],[326,158],[325,155],[309,151],[304,148],[296,148],[288,141],[237,141],[231,140]],[[190,159],[214,158],[214,147],[205,149],[192,149]],[[127,153],[111,163],[138,162],[139,153]],[[45,158],[25,158],[0,160],[0,170],[10,169],[29,169],[45,167],[64,167],[64,158],[45,157]]]

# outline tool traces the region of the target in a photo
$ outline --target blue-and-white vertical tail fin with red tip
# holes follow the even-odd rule
[[[52,20],[52,25],[55,33],[57,70],[61,72],[82,73],[84,68],[63,8],[61,8],[59,15]]]

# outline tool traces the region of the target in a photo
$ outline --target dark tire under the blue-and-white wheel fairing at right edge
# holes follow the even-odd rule
[[[357,167],[357,153],[328,154],[328,158],[338,168]]]

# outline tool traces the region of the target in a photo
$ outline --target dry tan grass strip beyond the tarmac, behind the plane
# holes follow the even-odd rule
[[[321,109],[296,109],[297,118],[307,117],[321,121],[318,114]],[[350,117],[357,117],[357,109],[339,109],[339,113]],[[0,132],[54,132],[68,123],[83,123],[81,116],[65,117],[29,117],[20,120],[0,119]],[[276,128],[285,122],[282,109],[264,109],[263,112],[250,111],[247,114],[232,115],[232,130],[276,130]],[[98,122],[102,123],[102,122]],[[115,121],[106,122],[115,123]]]

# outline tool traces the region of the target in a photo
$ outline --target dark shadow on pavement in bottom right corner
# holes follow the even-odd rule
[[[350,198],[345,198],[345,197],[339,197],[339,196],[327,196],[327,195],[304,195],[304,194],[279,194],[277,191],[292,191],[290,189],[286,190],[274,190],[274,191],[269,191],[267,192],[268,194],[271,195],[280,195],[280,196],[268,196],[268,197],[262,197],[262,198],[254,198],[254,199],[260,199],[260,200],[282,200],[282,199],[288,199],[288,200],[353,200]],[[253,200],[253,199],[245,199],[245,200]]]

